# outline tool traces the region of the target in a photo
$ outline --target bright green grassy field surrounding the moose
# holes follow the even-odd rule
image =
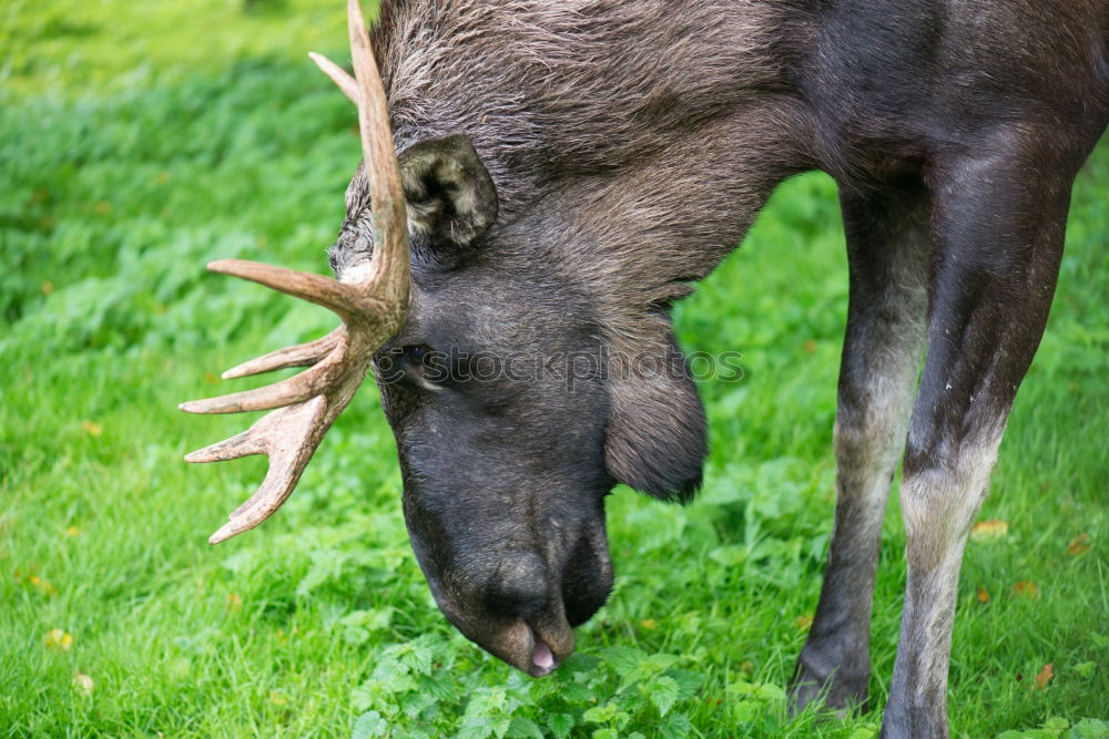
[[[680,306],[683,346],[741,351],[745,376],[702,387],[699,502],[611,500],[617,589],[556,677],[521,678],[435,608],[373,383],[278,515],[206,544],[264,461],[184,464],[245,422],[176,403],[332,319],[203,265],[326,269],[358,145],[303,52],[345,58],[340,6],[0,9],[0,736],[876,736],[877,714],[783,702],[833,509],[847,283],[821,175],[783,186]],[[1109,736],[1107,242],[1102,145],[981,514],[1008,531],[967,551],[957,737]],[[894,503],[877,708],[904,543]]]

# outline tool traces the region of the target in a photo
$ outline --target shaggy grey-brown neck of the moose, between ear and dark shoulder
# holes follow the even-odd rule
[[[711,271],[812,164],[791,6],[385,0],[374,44],[398,150],[467,134],[498,240],[650,304]]]

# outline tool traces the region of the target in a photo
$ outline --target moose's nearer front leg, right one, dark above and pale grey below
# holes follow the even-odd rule
[[[939,162],[930,178],[928,355],[901,486],[908,582],[886,739],[948,736],[963,550],[1055,292],[1072,182],[1059,173],[1068,158],[1013,143],[1005,154]]]

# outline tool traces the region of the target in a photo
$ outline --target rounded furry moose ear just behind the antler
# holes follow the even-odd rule
[[[400,155],[413,233],[433,246],[472,246],[497,220],[497,187],[469,137],[426,138]]]

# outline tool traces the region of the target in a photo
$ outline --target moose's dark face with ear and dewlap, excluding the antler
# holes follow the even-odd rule
[[[462,634],[542,676],[611,591],[606,495],[627,482],[689,496],[703,410],[664,315],[648,317],[661,331],[632,350],[651,361],[614,361],[590,294],[497,224],[496,189],[467,138],[417,144],[400,166],[410,299],[375,374],[413,548]],[[370,243],[367,201],[359,171],[330,254],[344,280]]]

